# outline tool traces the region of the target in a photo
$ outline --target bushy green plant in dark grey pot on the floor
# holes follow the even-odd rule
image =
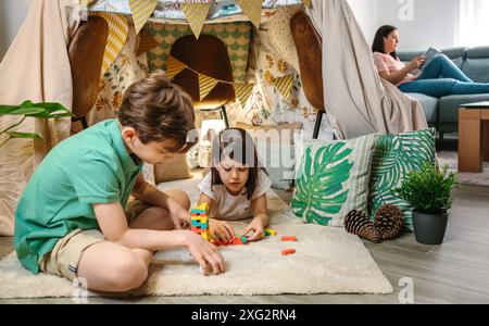
[[[443,242],[449,210],[452,208],[452,190],[459,185],[454,173],[440,171],[426,163],[419,171],[410,172],[396,189],[398,196],[413,206],[413,226],[416,241],[425,244]]]

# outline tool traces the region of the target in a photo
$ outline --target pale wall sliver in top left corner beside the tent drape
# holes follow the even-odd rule
[[[12,43],[32,0],[0,0],[0,61]]]

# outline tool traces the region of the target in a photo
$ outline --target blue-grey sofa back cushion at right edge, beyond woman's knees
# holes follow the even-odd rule
[[[462,71],[474,82],[489,83],[489,47],[468,49]]]

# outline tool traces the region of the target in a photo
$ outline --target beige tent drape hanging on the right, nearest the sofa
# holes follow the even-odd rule
[[[379,77],[346,0],[313,0],[309,14],[323,37],[326,113],[338,138],[428,127],[419,103]]]

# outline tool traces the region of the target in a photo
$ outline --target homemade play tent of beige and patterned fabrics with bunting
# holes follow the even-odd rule
[[[87,4],[88,12],[80,10]],[[33,0],[0,64],[0,103],[28,99],[71,109],[67,48],[80,22],[99,15],[108,22],[109,38],[89,124],[113,117],[125,89],[162,68],[171,77],[185,71],[198,76],[200,98],[220,83],[233,85],[236,100],[226,105],[231,125],[302,122],[312,133],[317,110],[302,90],[297,55],[308,49],[296,49],[289,27],[300,10],[310,14],[323,37],[323,88],[331,128],[325,121],[322,137],[331,129],[339,138],[351,138],[426,126],[417,102],[378,77],[346,0]],[[174,58],[172,47],[186,35],[218,38],[228,52],[231,80],[220,80]],[[12,122],[13,117],[0,116],[0,130]],[[26,120],[20,130],[36,131],[45,141],[11,139],[0,148],[0,235],[13,234],[23,188],[49,149],[70,136],[71,127],[67,118]]]

